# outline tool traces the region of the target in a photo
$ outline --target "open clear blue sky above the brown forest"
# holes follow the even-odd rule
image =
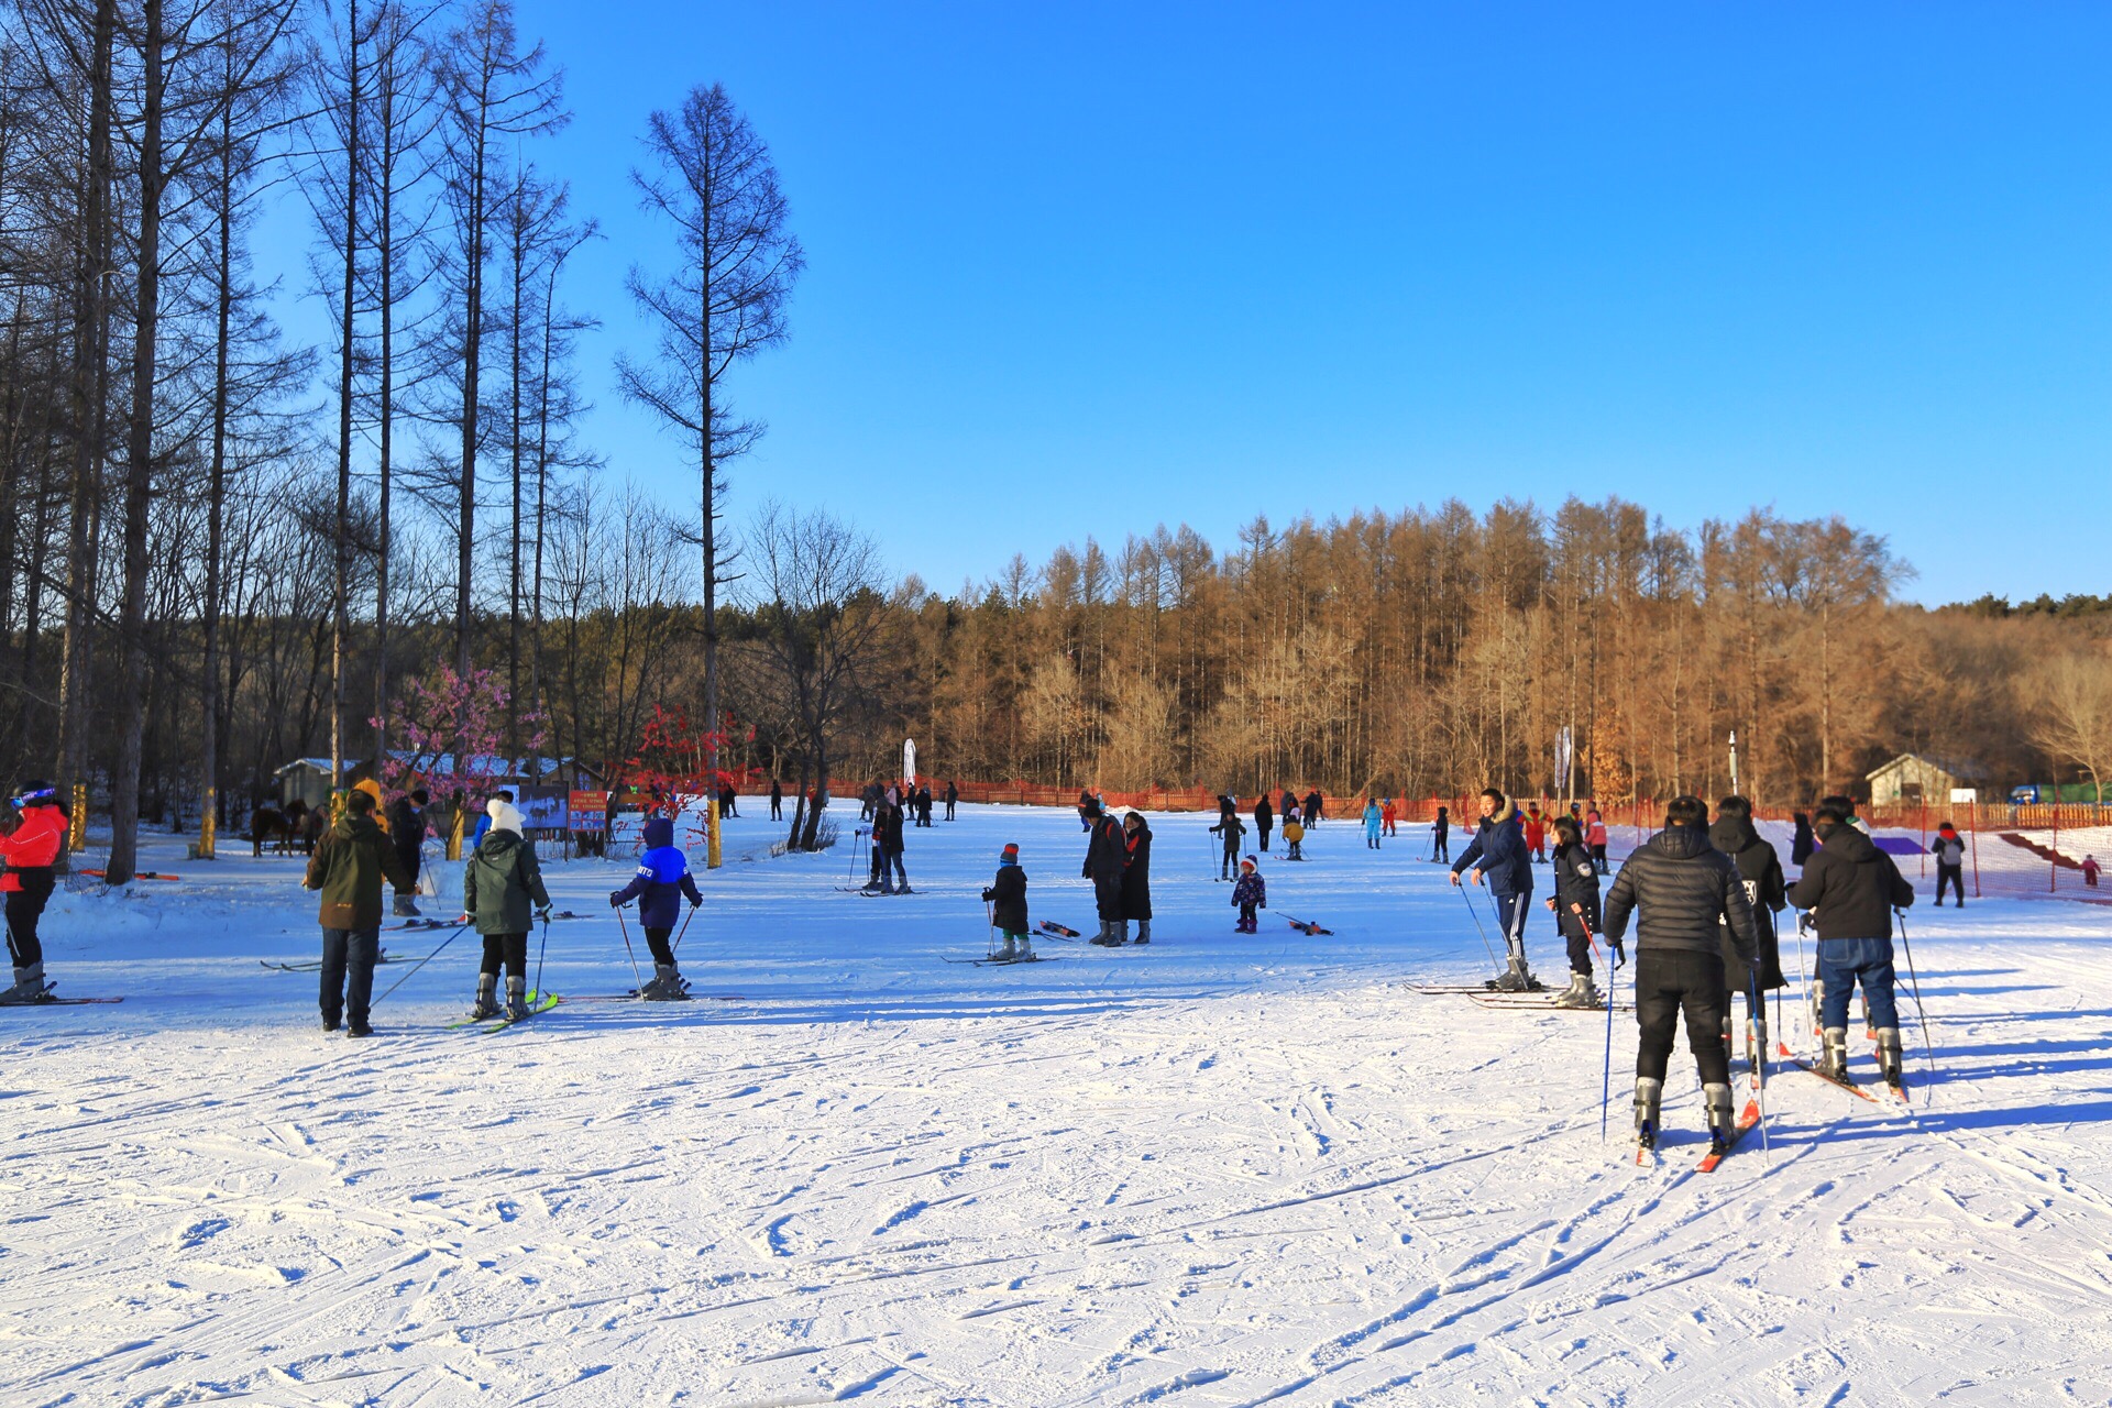
[[[577,4],[543,144],[612,475],[665,258],[625,169],[724,82],[809,272],[733,477],[934,587],[1257,513],[1844,513],[1905,595],[2104,591],[2112,8]]]

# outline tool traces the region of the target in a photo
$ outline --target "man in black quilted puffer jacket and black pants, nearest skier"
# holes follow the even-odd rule
[[[1738,868],[1709,844],[1709,832],[1702,830],[1706,819],[1709,808],[1700,798],[1673,798],[1664,808],[1664,830],[1622,863],[1605,897],[1605,937],[1616,956],[1628,931],[1628,914],[1641,910],[1635,927],[1635,1022],[1641,1028],[1635,1053],[1635,1138],[1643,1148],[1658,1142],[1658,1100],[1681,1011],[1687,1015],[1687,1045],[1702,1074],[1709,1144],[1730,1144],[1726,977],[1717,925],[1730,925],[1738,965],[1749,971],[1759,929]]]

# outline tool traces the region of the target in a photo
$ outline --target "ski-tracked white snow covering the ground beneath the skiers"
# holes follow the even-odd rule
[[[1637,1169],[1630,1017],[1601,1142],[1603,1017],[1409,986],[1489,971],[1419,832],[1318,827],[1242,937],[1206,825],[1155,819],[1147,950],[946,963],[1005,840],[1092,927],[1075,817],[963,806],[912,897],[843,849],[708,876],[724,1001],[450,1032],[463,937],[367,1043],[260,967],[313,954],[298,861],[152,853],[184,880],[46,922],[61,994],[127,1001],[0,1009],[4,1402],[2112,1402],[2112,912],[1918,908],[1926,1106],[1785,1072],[1696,1174],[1681,1049]],[[625,870],[549,865],[598,918],[545,986],[629,986]]]

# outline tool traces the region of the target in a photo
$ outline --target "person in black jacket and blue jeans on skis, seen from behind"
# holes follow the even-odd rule
[[[1863,984],[1878,1028],[1878,1064],[1899,1089],[1899,1001],[1892,996],[1892,910],[1913,903],[1913,887],[1892,857],[1848,823],[1837,806],[1812,819],[1818,851],[1789,887],[1789,903],[1812,912],[1818,927],[1818,1026],[1825,1030],[1825,1072],[1848,1079],[1848,996]]]

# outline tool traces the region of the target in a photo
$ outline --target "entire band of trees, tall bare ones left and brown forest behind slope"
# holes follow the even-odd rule
[[[1897,751],[2112,773],[2104,600],[1924,610],[1840,519],[1109,524],[950,595],[824,511],[727,524],[760,435],[731,376],[805,255],[716,84],[634,171],[665,247],[617,380],[695,473],[663,502],[579,433],[598,317],[564,279],[598,226],[539,165],[566,120],[505,0],[0,6],[0,770],[87,787],[112,876],[142,821],[376,760],[441,669],[488,671],[507,751],[615,779],[667,709],[788,785],[885,775],[904,737],[938,777],[1242,794],[1715,794],[1730,730],[1761,802]],[[302,268],[251,264],[270,201],[306,209]],[[332,308],[323,346],[272,323],[287,289]]]

